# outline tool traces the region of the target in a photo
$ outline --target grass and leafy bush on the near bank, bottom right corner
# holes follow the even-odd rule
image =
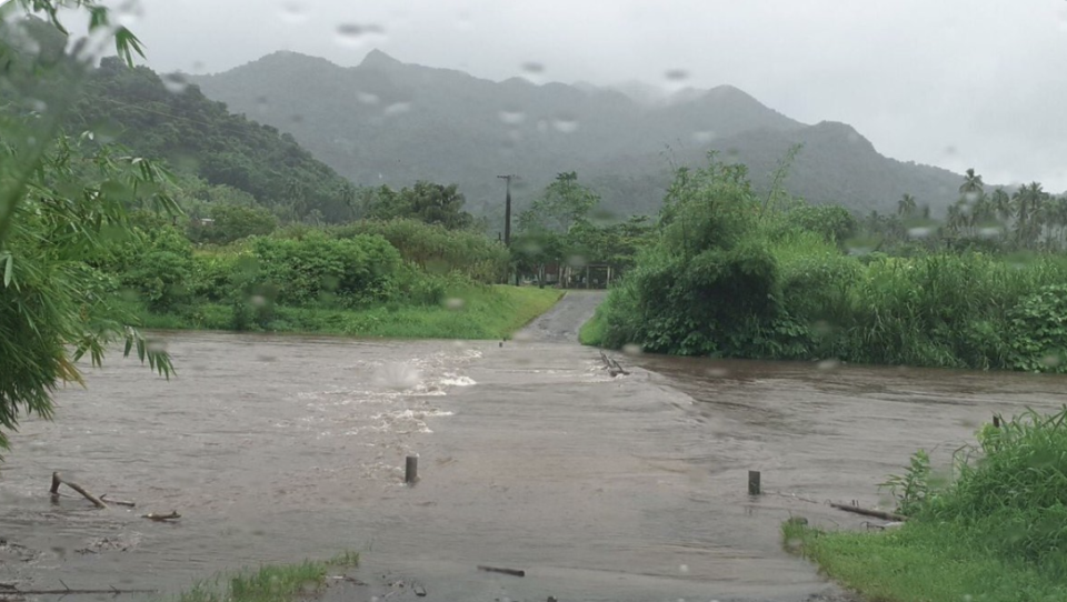
[[[910,520],[885,533],[784,526],[787,548],[871,600],[1067,599],[1067,408],[987,424],[938,483],[919,452],[887,483]],[[907,485],[907,486],[901,486]]]

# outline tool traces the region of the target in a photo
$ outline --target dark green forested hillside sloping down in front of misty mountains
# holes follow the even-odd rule
[[[355,187],[286,132],[232,114],[196,86],[117,58],[93,70],[76,102],[70,131],[167,159],[178,171],[247,192],[282,217],[342,221],[352,217]]]

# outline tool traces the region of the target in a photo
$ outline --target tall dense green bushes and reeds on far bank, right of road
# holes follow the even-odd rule
[[[980,180],[968,178],[960,194],[980,199]],[[842,209],[760,195],[742,165],[712,158],[678,170],[654,242],[587,341],[684,355],[1067,371],[1067,258],[1048,252],[1058,228],[1030,225],[1033,190],[1017,194],[1014,230],[983,251],[953,224],[929,221],[917,242],[871,241],[877,233],[854,235],[861,225]],[[1025,232],[1038,230],[1046,252],[1011,254],[1035,244]]]

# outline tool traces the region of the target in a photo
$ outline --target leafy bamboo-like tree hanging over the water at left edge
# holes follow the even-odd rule
[[[111,301],[109,282],[84,258],[101,252],[106,238],[136,237],[128,203],[150,200],[166,211],[177,205],[158,192],[167,175],[154,163],[109,147],[89,149],[88,136],[58,133],[71,87],[88,66],[83,59],[24,52],[17,43],[26,39],[26,21],[12,19],[17,11],[43,13],[49,28],[66,34],[59,4],[0,6],[6,29],[0,63],[7,66],[0,78],[8,92],[0,104],[0,429],[6,431],[17,429],[23,414],[51,417],[56,387],[82,382],[76,362],[88,354],[99,365],[117,341],[124,341],[124,354],[136,349],[160,373],[172,370],[167,353],[129,327],[132,317]],[[132,64],[139,42],[111,24],[104,7],[93,0],[62,4],[88,12],[90,32],[108,33]],[[11,28],[22,28],[22,34],[9,34]],[[37,92],[54,102],[41,106]],[[0,449],[8,444],[0,431]]]

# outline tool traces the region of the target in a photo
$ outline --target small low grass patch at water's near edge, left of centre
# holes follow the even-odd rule
[[[345,552],[327,562],[265,565],[197,583],[177,596],[177,602],[293,602],[326,586],[330,566],[359,564],[359,554]]]

